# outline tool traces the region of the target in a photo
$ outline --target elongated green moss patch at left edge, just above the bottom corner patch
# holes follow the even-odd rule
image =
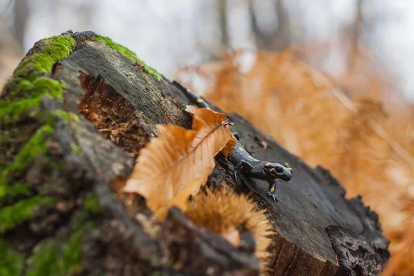
[[[33,216],[34,210],[39,205],[52,206],[54,199],[52,197],[30,197],[22,199],[12,206],[6,206],[0,209],[0,233],[14,228]]]

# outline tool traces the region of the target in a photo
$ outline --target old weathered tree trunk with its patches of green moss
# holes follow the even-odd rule
[[[0,275],[257,275],[251,252],[178,209],[161,223],[146,208],[127,209],[117,193],[155,124],[190,126],[185,103],[170,80],[93,32],[37,42],[1,93]],[[252,189],[268,210],[277,232],[270,274],[380,273],[389,253],[377,214],[360,197],[344,199],[327,170],[231,118],[255,157],[294,169],[278,184],[277,203],[264,182],[236,182],[222,155],[208,180]]]

